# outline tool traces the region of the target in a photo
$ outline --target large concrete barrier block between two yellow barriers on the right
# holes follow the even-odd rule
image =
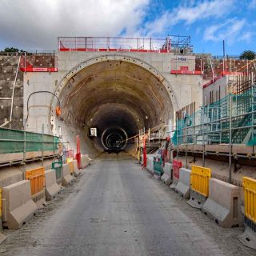
[[[202,211],[222,227],[242,226],[240,188],[216,178],[210,178],[209,197]]]

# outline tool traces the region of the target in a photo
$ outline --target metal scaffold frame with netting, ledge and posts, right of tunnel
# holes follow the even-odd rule
[[[202,106],[194,114],[184,112],[177,119],[172,136],[174,150],[178,153],[182,148],[186,162],[188,151],[202,154],[203,166],[206,154],[228,157],[230,183],[232,159],[256,158],[256,74],[242,85],[238,83],[234,91],[236,94],[230,93],[218,102]],[[246,150],[239,152],[239,146],[246,146]]]

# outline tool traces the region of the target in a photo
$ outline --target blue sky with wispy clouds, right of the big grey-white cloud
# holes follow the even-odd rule
[[[154,36],[190,35],[198,53],[222,54],[222,40],[227,54],[256,51],[256,0],[154,1],[147,24],[155,27]]]

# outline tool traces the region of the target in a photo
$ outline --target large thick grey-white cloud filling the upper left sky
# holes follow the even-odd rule
[[[1,0],[0,49],[53,49],[58,36],[134,34],[150,0]]]

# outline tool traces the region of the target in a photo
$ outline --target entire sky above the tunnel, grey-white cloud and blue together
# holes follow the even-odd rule
[[[57,49],[58,36],[190,35],[196,53],[256,51],[256,0],[1,0],[0,49]]]

